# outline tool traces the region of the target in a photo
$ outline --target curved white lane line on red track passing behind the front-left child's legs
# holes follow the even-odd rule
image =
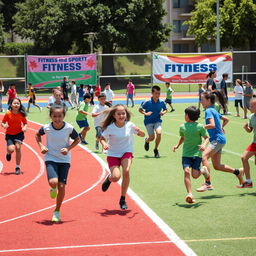
[[[31,121],[30,121],[30,122],[31,122]],[[35,122],[32,122],[32,123],[35,123]],[[36,123],[36,124],[38,124],[38,123]],[[39,124],[39,125],[40,125],[40,124]],[[31,129],[31,130],[34,130],[34,131],[37,131],[37,130],[32,129],[32,128],[30,128],[30,129]],[[91,153],[90,150],[88,150],[88,149],[82,147],[81,145],[79,145],[79,146],[80,146],[82,149],[84,149],[85,151]],[[96,154],[94,155],[94,154],[91,153],[91,155],[100,163],[100,165],[101,165],[101,167],[102,167],[102,170],[101,170],[102,172],[101,172],[100,178],[99,178],[98,181],[96,181],[91,187],[89,187],[88,189],[84,190],[83,192],[81,192],[81,193],[79,193],[79,194],[77,194],[77,195],[75,195],[75,196],[73,196],[73,197],[71,197],[71,198],[69,198],[69,199],[64,200],[62,204],[67,203],[67,202],[69,202],[69,201],[72,201],[72,200],[74,200],[74,199],[76,199],[76,198],[78,198],[78,197],[80,197],[80,196],[82,196],[82,195],[88,193],[90,190],[92,190],[93,188],[95,188],[95,187],[103,180],[103,178],[105,177],[106,171],[105,171],[105,165],[103,164],[104,161],[103,161],[101,158],[99,158]],[[36,213],[39,213],[39,212],[46,211],[46,210],[48,210],[48,209],[54,208],[55,206],[56,206],[56,205],[53,204],[53,205],[51,205],[51,206],[45,207],[45,208],[40,209],[40,210],[37,210],[37,211],[33,211],[33,212],[26,213],[26,214],[23,214],[23,215],[20,215],[20,216],[11,218],[11,219],[7,219],[7,220],[0,221],[0,225],[1,225],[1,224],[4,224],[4,223],[11,222],[11,221],[14,221],[14,220],[18,220],[18,219],[21,219],[21,218],[25,218],[25,217],[27,217],[27,216],[31,216],[31,215],[36,214]]]

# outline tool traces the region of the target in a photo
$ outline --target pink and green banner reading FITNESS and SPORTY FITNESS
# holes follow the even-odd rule
[[[59,86],[63,77],[76,84],[97,82],[96,54],[27,56],[27,81],[35,88]]]

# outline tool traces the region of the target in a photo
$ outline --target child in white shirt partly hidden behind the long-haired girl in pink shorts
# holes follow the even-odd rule
[[[92,117],[94,117],[94,127],[96,129],[96,144],[95,144],[96,150],[99,150],[99,141],[102,135],[101,123],[105,117],[105,110],[108,108],[108,106],[105,105],[106,95],[104,93],[101,93],[98,96],[98,101],[99,101],[99,104],[95,105],[95,107],[92,110]]]

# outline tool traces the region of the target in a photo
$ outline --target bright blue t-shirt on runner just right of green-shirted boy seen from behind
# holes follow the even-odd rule
[[[226,144],[226,137],[222,131],[220,118],[222,115],[214,109],[213,106],[207,108],[205,110],[205,122],[206,124],[209,124],[209,119],[213,118],[215,122],[215,128],[213,129],[207,129],[210,141],[216,140],[220,144]]]

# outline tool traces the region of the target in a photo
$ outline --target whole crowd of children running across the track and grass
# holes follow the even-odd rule
[[[229,114],[227,79],[228,74],[222,75],[220,88],[216,85],[216,72],[211,71],[207,76],[205,85],[199,84],[199,103],[198,107],[191,106],[185,109],[185,123],[181,125],[178,143],[173,146],[175,152],[183,144],[182,166],[184,169],[184,183],[187,190],[186,202],[194,203],[195,199],[192,195],[190,172],[193,178],[199,178],[202,174],[205,182],[198,192],[212,190],[210,175],[210,165],[208,160],[211,158],[213,168],[223,172],[233,173],[239,181],[239,188],[252,187],[250,177],[250,167],[248,160],[256,154],[256,99],[253,98],[253,88],[249,81],[244,84],[240,79],[235,80],[234,86],[234,105],[236,108],[236,116],[239,117],[239,106],[243,110],[244,118],[247,118],[247,110],[252,112],[249,123],[244,126],[247,132],[254,133],[253,143],[246,149],[242,155],[242,168],[232,168],[221,163],[221,152],[226,144],[224,127],[228,123],[228,118],[224,115]],[[144,148],[149,150],[150,142],[155,141],[154,157],[159,158],[159,144],[161,141],[162,127],[161,117],[167,113],[167,105],[171,108],[170,112],[175,111],[172,102],[174,93],[170,83],[166,82],[166,99],[160,99],[160,87],[152,87],[152,95],[148,100],[142,102],[139,112],[144,115],[144,124],[148,136],[145,139]],[[68,90],[71,89],[70,97]],[[4,94],[4,85],[0,81],[0,112],[3,112],[2,96]],[[31,83],[28,84],[29,100],[27,109],[21,104],[17,98],[15,85],[11,84],[7,90],[8,110],[2,119],[2,127],[6,129],[7,142],[7,161],[11,160],[13,152],[16,152],[16,168],[15,173],[20,174],[21,161],[21,145],[24,140],[24,132],[27,128],[26,113],[29,112],[30,105],[33,104],[40,111],[42,108],[36,104],[35,90]],[[134,107],[135,85],[129,80],[126,87],[126,105],[118,104],[113,106],[113,98],[115,94],[111,90],[110,83],[107,83],[104,90],[101,86],[96,85],[95,89],[90,85],[80,84],[77,87],[76,81],[68,81],[67,77],[63,78],[60,86],[52,90],[52,96],[49,97],[47,108],[50,109],[50,118],[52,123],[42,127],[37,133],[37,142],[40,150],[45,154],[46,170],[48,182],[51,187],[50,195],[56,199],[56,209],[53,213],[53,221],[60,221],[60,206],[64,198],[65,184],[70,167],[69,150],[75,147],[79,141],[82,144],[88,144],[86,141],[87,132],[90,130],[87,116],[94,119],[94,127],[96,130],[95,148],[107,151],[107,161],[109,164],[110,174],[102,184],[102,190],[107,191],[111,182],[117,182],[121,177],[120,166],[122,167],[122,185],[120,208],[127,209],[125,195],[129,186],[130,176],[129,170],[133,158],[133,135],[137,134],[144,137],[145,133],[130,122],[131,114],[127,110],[129,101],[131,107]],[[94,97],[97,97],[98,104],[95,105]],[[73,126],[64,122],[64,117],[68,109],[66,102],[69,103],[71,109],[77,110],[76,123],[81,128],[77,133]],[[200,106],[205,109],[205,125],[197,122],[200,117]],[[90,106],[93,106],[90,112]],[[221,109],[223,115],[220,114]],[[221,123],[222,121],[222,123]],[[65,128],[65,129],[64,129]],[[206,131],[208,131],[209,136]],[[41,136],[47,135],[47,146],[41,141]],[[60,143],[61,138],[63,143]],[[69,144],[69,137],[74,139]],[[58,141],[59,138],[59,141]],[[202,138],[204,141],[202,141]],[[208,145],[208,146],[207,146]],[[56,157],[55,151],[58,151]],[[61,165],[61,164],[62,165]],[[202,167],[201,167],[202,163]],[[243,180],[243,172],[246,180]],[[62,174],[60,174],[62,173]]]

